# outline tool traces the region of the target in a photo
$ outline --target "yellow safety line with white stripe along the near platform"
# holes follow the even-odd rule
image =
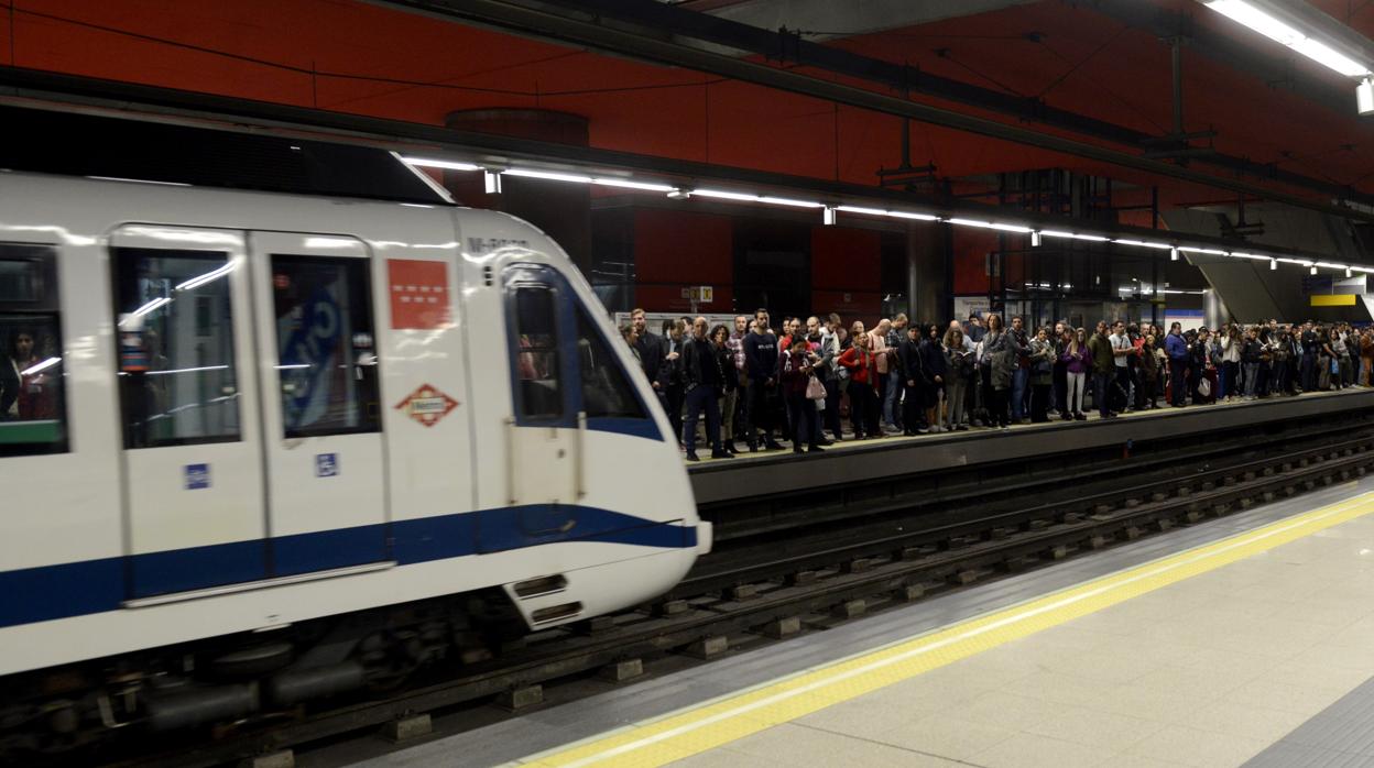
[[[534,754],[519,763],[547,768],[664,765],[1370,512],[1374,512],[1374,493],[1362,493],[1338,504],[1303,512],[576,745]]]

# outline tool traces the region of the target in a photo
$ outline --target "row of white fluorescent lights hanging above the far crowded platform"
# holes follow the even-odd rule
[[[838,213],[900,218],[907,221],[943,221],[945,224],[951,224],[955,227],[971,227],[977,229],[992,229],[1000,232],[1013,232],[1018,235],[1030,235],[1032,246],[1037,246],[1041,238],[1059,238],[1059,239],[1087,240],[1094,243],[1116,243],[1120,246],[1143,247],[1151,250],[1168,250],[1171,251],[1171,256],[1175,257],[1178,251],[1186,251],[1186,253],[1202,253],[1209,256],[1249,258],[1254,261],[1268,261],[1271,269],[1276,269],[1278,264],[1283,262],[1283,264],[1296,264],[1298,267],[1307,267],[1309,269],[1323,268],[1323,269],[1345,271],[1347,273],[1351,272],[1374,273],[1374,268],[1334,264],[1330,261],[1308,261],[1301,258],[1270,257],[1253,253],[1237,253],[1237,251],[1226,251],[1208,247],[1179,246],[1176,243],[1167,243],[1167,242],[1138,240],[1131,238],[1109,238],[1105,235],[1094,235],[1090,232],[1068,232],[1063,229],[1036,229],[1033,227],[1026,227],[1024,224],[987,221],[981,218],[962,218],[955,216],[937,216],[933,213],[921,213],[912,210],[892,210],[892,209],[864,207],[853,205],[827,205],[816,201],[780,198],[774,195],[754,195],[749,192],[734,192],[730,190],[710,190],[710,188],[699,190],[699,188],[684,187],[680,184],[664,184],[658,181],[635,181],[631,179],[620,179],[614,176],[588,176],[581,173],[561,173],[554,170],[533,170],[523,168],[499,169],[470,162],[456,162],[456,161],[420,158],[420,157],[401,157],[401,161],[418,168],[440,168],[444,170],[470,170],[470,172],[481,170],[492,177],[517,176],[522,179],[540,179],[544,181],[563,181],[572,184],[592,184],[600,187],[616,187],[622,190],[639,190],[644,192],[662,192],[673,199],[709,198],[709,199],[732,201],[743,203],[763,203],[763,205],[778,205],[786,207],[820,209],[823,212],[824,224],[834,224]]]

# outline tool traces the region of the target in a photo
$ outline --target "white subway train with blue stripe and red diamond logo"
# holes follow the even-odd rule
[[[0,339],[0,754],[423,679],[710,547],[506,214],[3,172]]]

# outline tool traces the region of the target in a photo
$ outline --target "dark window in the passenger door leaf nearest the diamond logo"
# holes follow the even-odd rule
[[[286,437],[379,431],[367,260],[273,254],[272,295]]]

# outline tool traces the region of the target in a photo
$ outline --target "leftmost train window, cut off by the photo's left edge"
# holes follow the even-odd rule
[[[0,243],[0,456],[67,449],[56,249]]]

